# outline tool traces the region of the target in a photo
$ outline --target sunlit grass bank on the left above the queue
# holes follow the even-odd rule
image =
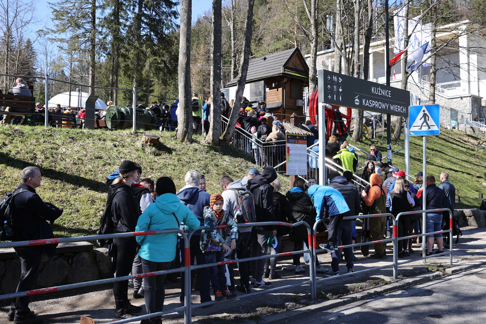
[[[0,194],[15,189],[20,171],[27,166],[41,169],[38,194],[64,214],[56,222],[58,236],[93,234],[106,204],[106,177],[118,170],[124,159],[142,166],[142,178],[171,177],[176,188],[184,186],[184,175],[197,170],[207,178],[208,192],[221,192],[223,175],[246,176],[251,157],[232,146],[202,145],[196,136],[192,145],[175,139],[175,133],[159,133],[157,147],[142,145],[143,133],[131,131],[75,130],[28,126],[0,127]],[[290,180],[281,177],[282,191]]]

